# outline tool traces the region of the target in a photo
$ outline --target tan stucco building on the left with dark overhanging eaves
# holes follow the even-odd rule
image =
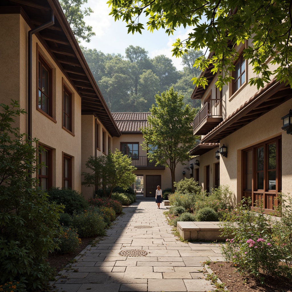
[[[85,161],[107,154],[120,131],[62,8],[57,0],[4,0],[0,23],[0,101],[19,101],[28,114],[16,126],[46,149],[41,186],[81,192]]]

